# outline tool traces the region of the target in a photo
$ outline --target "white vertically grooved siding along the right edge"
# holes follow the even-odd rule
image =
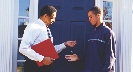
[[[112,29],[117,39],[116,72],[133,72],[132,0],[95,0],[95,3],[102,6],[102,1],[112,1],[114,5]]]

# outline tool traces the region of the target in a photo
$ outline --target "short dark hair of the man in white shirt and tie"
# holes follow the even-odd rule
[[[51,5],[46,5],[44,6],[41,11],[40,11],[40,16],[43,16],[44,14],[47,14],[48,16],[51,16],[52,13],[57,12],[57,10],[55,9],[55,7],[51,6]]]

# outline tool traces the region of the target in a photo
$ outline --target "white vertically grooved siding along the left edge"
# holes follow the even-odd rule
[[[0,0],[0,72],[12,72],[15,0]]]

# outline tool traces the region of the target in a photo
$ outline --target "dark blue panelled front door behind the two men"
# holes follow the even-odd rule
[[[60,58],[55,60],[51,68],[53,70],[79,70],[83,67],[83,61],[68,62],[66,54],[76,53],[84,56],[87,35],[92,26],[88,22],[88,10],[94,6],[95,0],[39,0],[39,10],[44,5],[53,5],[57,9],[56,22],[50,26],[54,44],[61,44],[67,40],[76,40],[74,48],[66,48],[59,53]],[[69,71],[68,71],[69,72]]]

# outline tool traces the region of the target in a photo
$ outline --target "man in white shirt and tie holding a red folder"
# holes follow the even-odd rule
[[[22,41],[19,47],[19,52],[26,57],[24,63],[24,72],[49,72],[49,65],[54,59],[50,57],[44,57],[36,53],[31,46],[36,45],[49,37],[52,39],[51,32],[48,26],[55,22],[57,10],[50,5],[44,6],[40,11],[40,18],[33,23],[30,23],[25,28]],[[60,45],[55,45],[57,53],[61,52],[66,46],[74,47],[76,41],[67,41]],[[38,67],[36,61],[43,62],[45,65]]]

